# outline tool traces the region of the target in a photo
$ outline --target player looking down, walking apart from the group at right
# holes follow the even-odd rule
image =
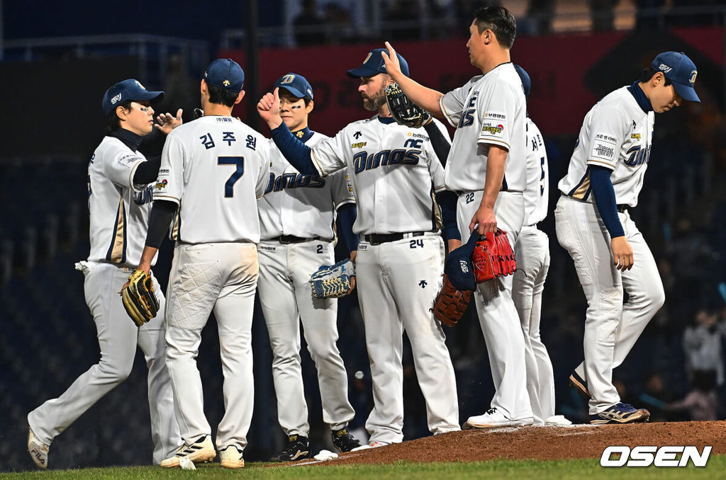
[[[656,262],[630,218],[650,159],[655,113],[700,102],[696,65],[683,53],[658,54],[640,81],[606,95],[585,115],[555,209],[560,245],[575,263],[587,297],[584,363],[571,383],[590,397],[590,423],[648,421],[620,402],[620,365],[665,294]],[[628,301],[623,305],[623,291]]]

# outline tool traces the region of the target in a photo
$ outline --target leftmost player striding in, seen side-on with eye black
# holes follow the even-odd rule
[[[165,363],[164,325],[160,318],[137,328],[123,309],[118,286],[141,259],[151,210],[153,182],[160,157],[146,159],[139,152],[142,136],[154,127],[164,133],[181,125],[163,114],[154,125],[151,104],[163,99],[162,91],[147,91],[129,78],[109,88],[102,101],[107,117],[106,133],[89,162],[88,260],[76,263],[83,272],[83,290],[98,330],[101,360],[81,374],[60,397],[48,400],[28,413],[28,452],[40,468],[48,468],[53,439],[68,428],[105,394],[129,376],[136,346],[141,347],[149,368],[149,407],[154,442],[154,463],[179,447],[179,426],[173,415],[171,384]],[[150,259],[150,265],[156,258]],[[164,296],[159,291],[160,310]]]

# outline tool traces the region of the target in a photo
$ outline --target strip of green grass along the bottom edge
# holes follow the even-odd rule
[[[167,470],[160,467],[84,468],[82,470],[1,473],[1,479],[722,479],[726,455],[712,455],[705,468],[602,468],[599,460],[492,460],[476,463],[394,463],[393,465],[269,466],[248,463],[239,470],[219,464],[198,465],[197,471]]]

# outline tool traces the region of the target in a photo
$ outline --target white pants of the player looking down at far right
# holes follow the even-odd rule
[[[585,360],[576,372],[592,395],[590,415],[620,401],[613,368],[623,362],[665,301],[661,276],[643,234],[627,211],[618,216],[635,260],[633,268],[624,272],[613,265],[610,234],[594,203],[560,196],[555,209],[558,241],[572,257],[587,298]],[[625,305],[623,289],[629,297]]]

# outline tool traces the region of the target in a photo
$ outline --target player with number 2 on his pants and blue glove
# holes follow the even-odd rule
[[[282,75],[280,117],[304,144],[328,138],[308,128],[313,90],[302,75]],[[272,376],[277,415],[287,445],[273,460],[310,458],[310,426],[300,366],[300,323],[315,362],[323,420],[330,425],[333,444],[341,452],[360,447],[346,426],[355,415],[348,402],[348,376],[335,342],[338,341],[338,302],[314,299],[309,279],[320,265],[335,263],[334,240],[345,232],[348,251],[353,236],[355,197],[346,171],[326,178],[298,173],[275,147],[265,195],[258,200],[261,241],[258,245],[260,305],[272,346]],[[335,211],[339,215],[336,219]]]

